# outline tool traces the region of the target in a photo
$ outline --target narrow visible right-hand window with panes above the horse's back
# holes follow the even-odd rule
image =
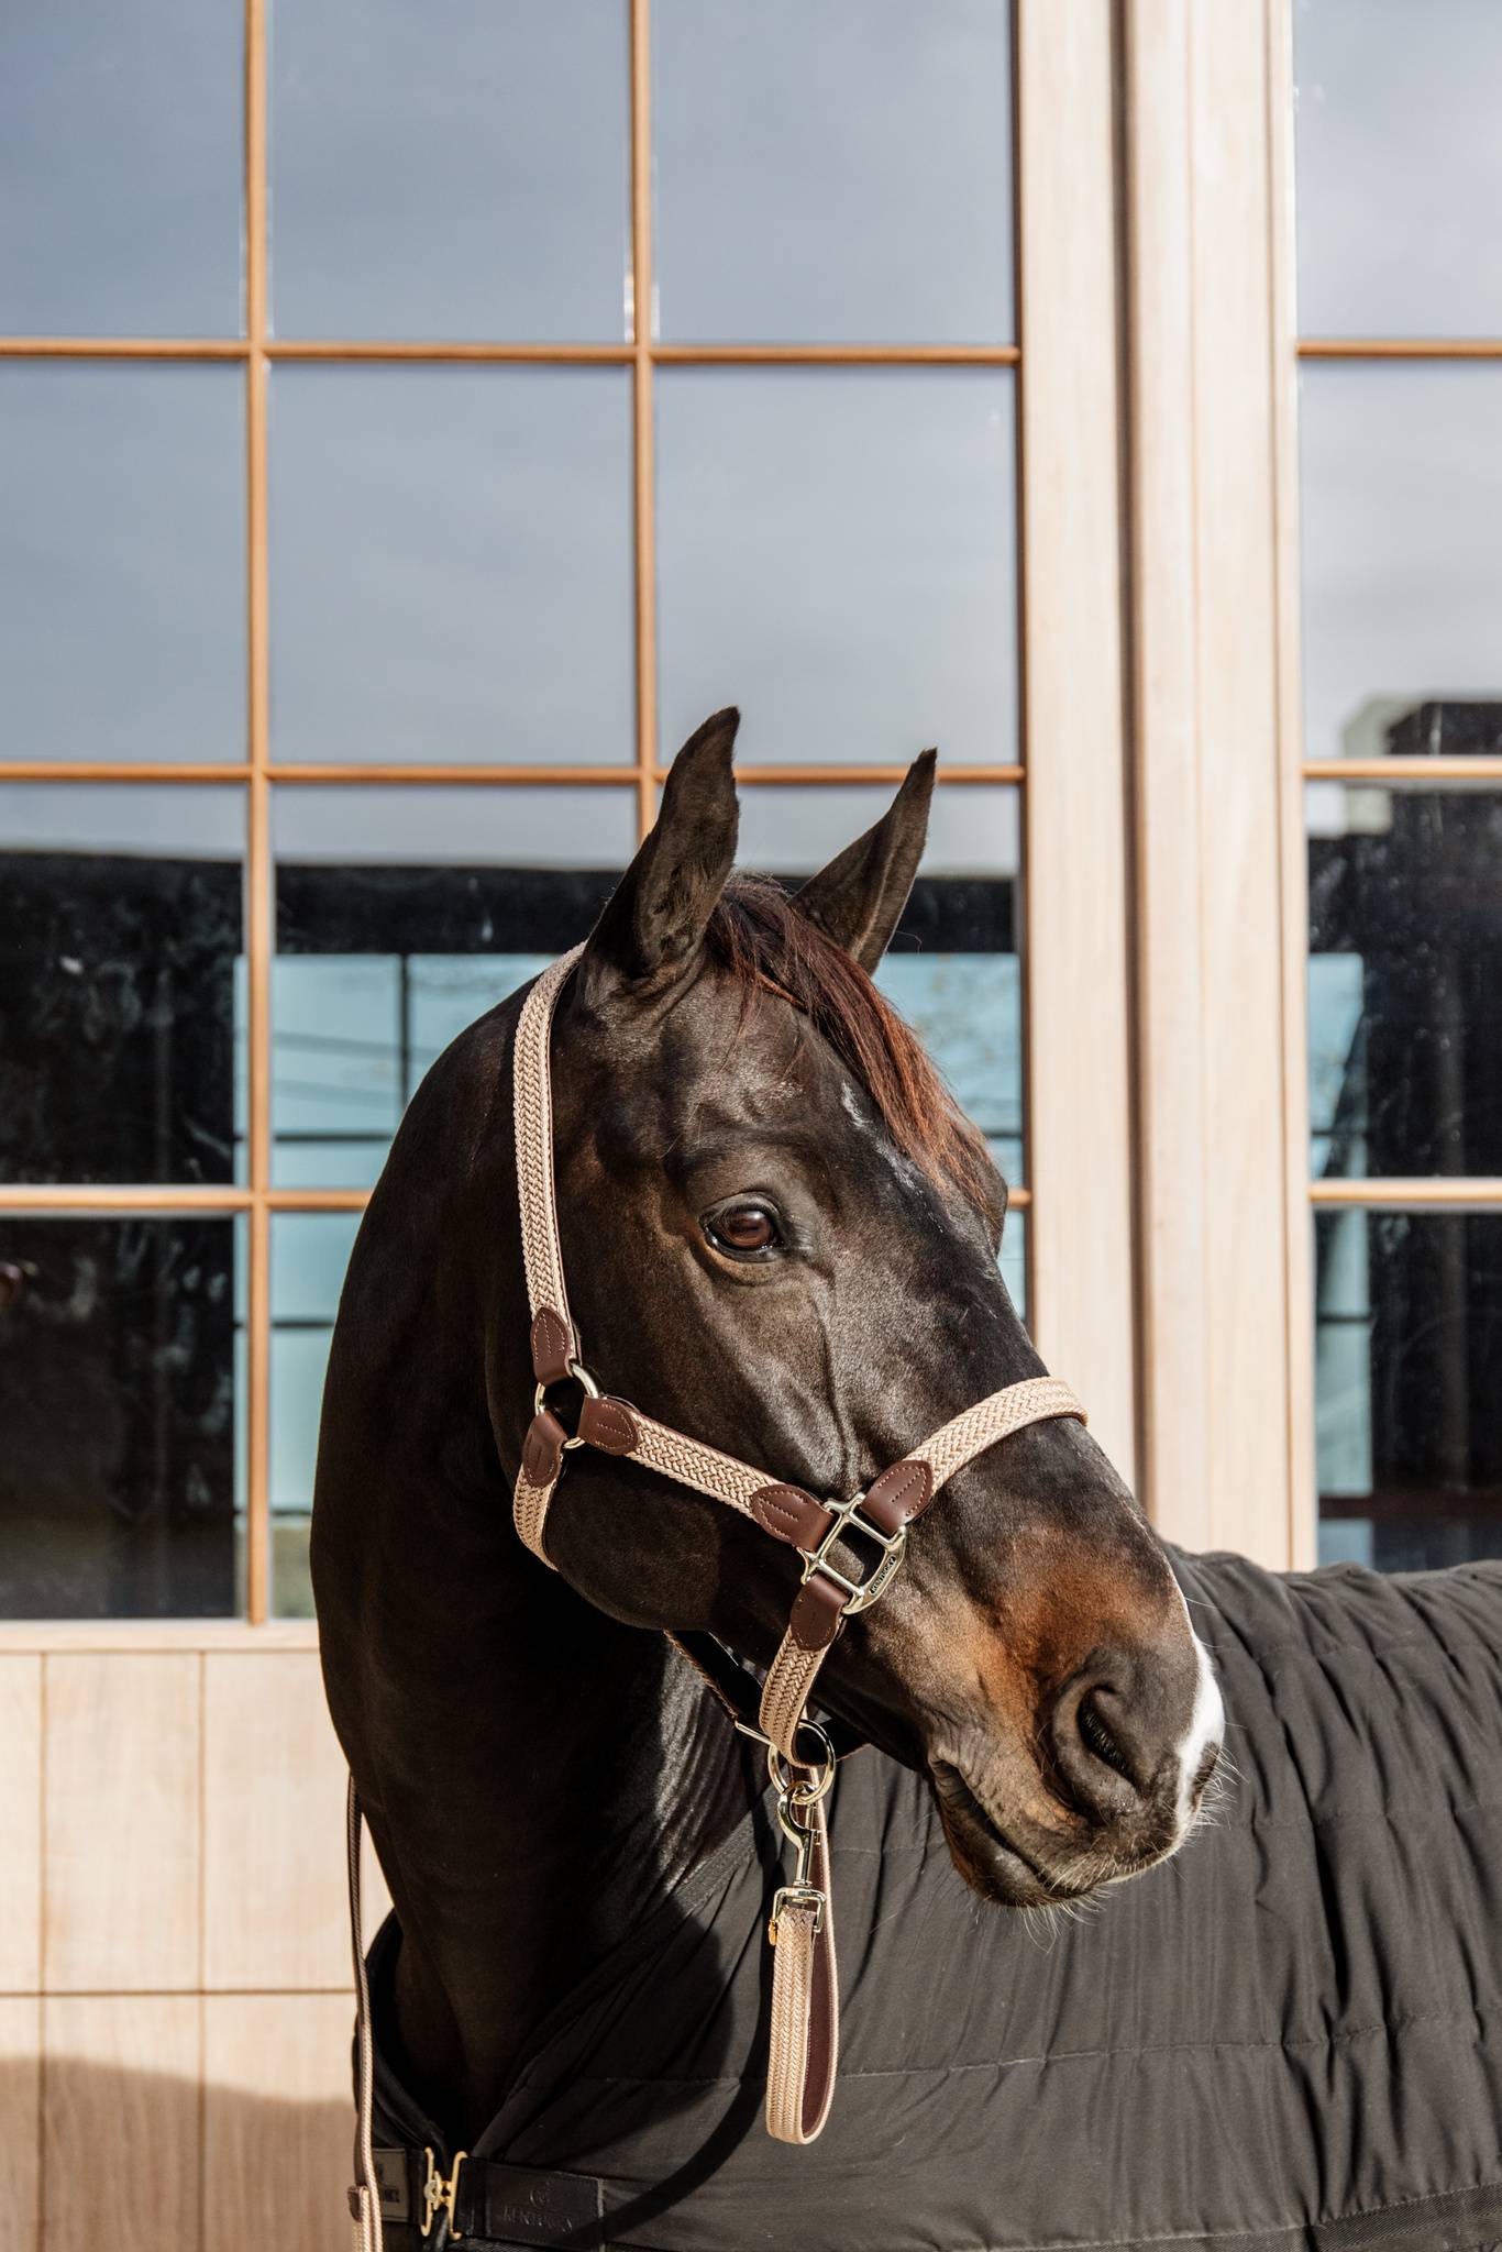
[[[1502,1554],[1502,18],[1299,0],[1320,1554]]]

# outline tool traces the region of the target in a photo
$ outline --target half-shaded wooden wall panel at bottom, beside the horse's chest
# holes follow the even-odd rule
[[[205,2214],[216,2252],[345,2252],[354,2108],[345,1995],[205,2002]]]

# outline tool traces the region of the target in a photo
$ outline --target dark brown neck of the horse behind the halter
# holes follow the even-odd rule
[[[394,2063],[466,2139],[545,2011],[730,1833],[750,1781],[689,1664],[511,1525],[531,1412],[511,1018],[435,1067],[372,1198],[313,1511],[329,1705],[403,1930]],[[455,1169],[459,1135],[495,1153],[484,1178]],[[576,1475],[622,1482],[606,1457]]]

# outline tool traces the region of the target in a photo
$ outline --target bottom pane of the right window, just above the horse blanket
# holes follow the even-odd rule
[[[1320,1558],[1502,1556],[1502,1214],[1315,1214]]]

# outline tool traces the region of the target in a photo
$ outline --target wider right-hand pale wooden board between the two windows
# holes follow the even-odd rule
[[[1268,1565],[1295,1561],[1299,1290],[1279,5],[1126,9],[1146,1493],[1171,1538]]]

